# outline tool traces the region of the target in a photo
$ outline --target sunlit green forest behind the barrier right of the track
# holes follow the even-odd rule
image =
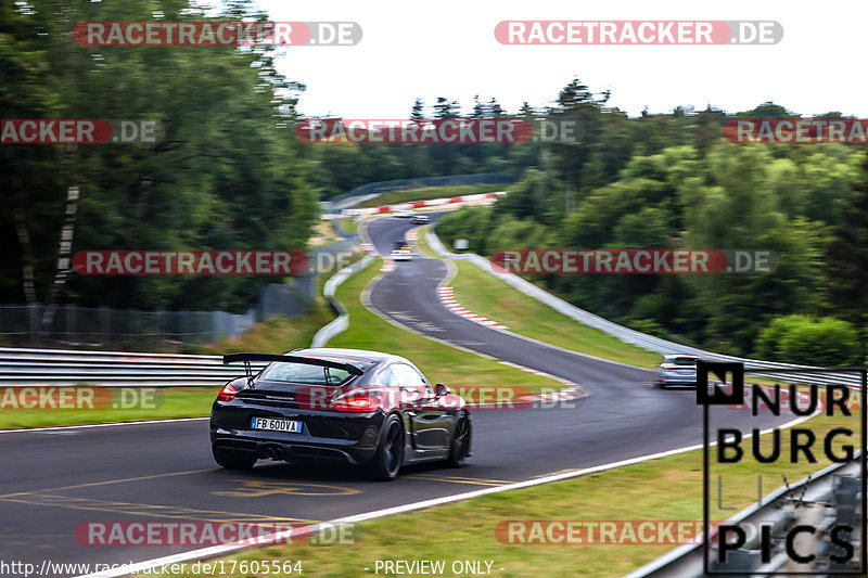
[[[770,249],[779,259],[770,274],[531,279],[628,326],[720,352],[831,364],[864,360],[864,147],[722,138],[732,117],[797,116],[771,103],[732,116],[676,110],[627,118],[577,81],[559,103],[557,114],[583,119],[583,142],[547,146],[494,207],[444,217],[437,231],[445,241],[468,239],[469,251],[484,255],[565,247]],[[804,359],[805,348],[770,347],[775,331],[835,338],[829,339],[833,347],[818,345]]]

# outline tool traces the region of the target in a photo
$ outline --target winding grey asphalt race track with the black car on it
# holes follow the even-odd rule
[[[410,227],[381,218],[369,234],[387,255]],[[435,259],[396,264],[373,285],[371,303],[420,333],[573,381],[588,397],[567,407],[475,411],[467,466],[409,467],[388,484],[368,481],[347,467],[259,462],[248,473],[224,471],[212,460],[206,419],[0,433],[0,560],[37,567],[44,560],[138,562],[192,548],[82,545],[77,525],[329,521],[701,441],[702,414],[692,389],[659,390],[650,385],[650,370],[565,352],[463,319],[436,297],[446,273]],[[727,414],[731,425],[746,426],[748,418]],[[790,420],[773,418],[767,426]]]

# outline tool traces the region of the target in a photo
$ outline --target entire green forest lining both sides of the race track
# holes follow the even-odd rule
[[[0,0],[2,118],[136,118],[164,128],[155,144],[0,145],[0,303],[242,311],[273,279],[79,277],[67,274],[59,257],[106,248],[305,249],[318,202],[354,187],[505,172],[518,180],[510,194],[494,207],[444,218],[438,232],[446,241],[469,239],[481,254],[771,249],[780,264],[765,275],[534,281],[607,318],[724,352],[786,360],[795,354],[774,344],[814,332],[856,344],[817,350],[819,358],[864,358],[864,147],[723,139],[732,118],[797,117],[780,105],[740,113],[678,107],[631,118],[609,105],[608,93],[593,94],[574,78],[546,106],[509,112],[488,97],[462,107],[426,95],[407,112],[416,119],[574,120],[582,127],[576,142],[306,144],[294,134],[304,118],[304,79],[278,74],[272,48],[139,50],[72,38],[78,22],[156,17],[206,20],[187,0]],[[265,20],[246,2],[207,17]],[[64,226],[73,226],[71,246]]]

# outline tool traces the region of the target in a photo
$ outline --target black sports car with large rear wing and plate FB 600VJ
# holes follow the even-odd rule
[[[251,362],[270,362],[254,375]],[[360,349],[229,354],[246,376],[230,381],[210,412],[214,459],[247,470],[257,460],[337,460],[393,479],[403,464],[470,455],[464,401],[431,386],[403,357]]]

